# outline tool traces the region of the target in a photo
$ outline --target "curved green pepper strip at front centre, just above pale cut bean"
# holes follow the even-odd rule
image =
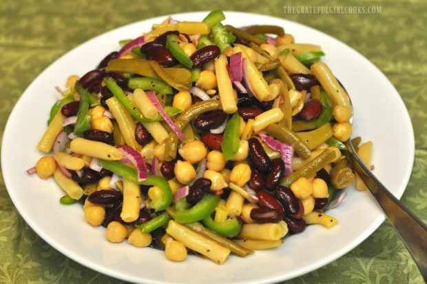
[[[220,202],[220,196],[205,195],[196,205],[187,210],[180,210],[175,214],[175,221],[181,224],[193,223],[205,219],[212,214],[216,205]]]

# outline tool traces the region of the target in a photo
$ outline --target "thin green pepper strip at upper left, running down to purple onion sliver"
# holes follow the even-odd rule
[[[126,96],[125,92],[123,92],[122,88],[120,88],[119,85],[117,85],[116,81],[112,78],[107,78],[104,80],[105,85],[110,90],[110,92],[113,93],[114,97],[120,101],[120,103],[123,105],[123,107],[129,112],[134,119],[136,119],[139,122],[155,122],[155,121],[163,121],[163,117],[158,114],[154,116],[152,119],[147,119],[147,117],[144,117],[143,114],[136,108],[136,106],[132,103],[132,101],[129,100],[129,98]],[[180,113],[180,110],[177,108],[171,108],[166,107],[165,112],[168,116],[175,116],[176,114]]]

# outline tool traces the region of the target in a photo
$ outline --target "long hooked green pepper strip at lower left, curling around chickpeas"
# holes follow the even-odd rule
[[[169,183],[167,183],[165,179],[149,174],[145,181],[138,182],[138,179],[136,178],[136,170],[129,165],[124,165],[117,161],[105,160],[100,160],[99,163],[103,168],[114,172],[114,174],[123,176],[123,178],[128,179],[129,181],[139,183],[140,185],[154,185],[160,188],[161,194],[157,199],[154,199],[149,203],[150,208],[160,211],[165,210],[165,208],[171,204],[172,191]]]

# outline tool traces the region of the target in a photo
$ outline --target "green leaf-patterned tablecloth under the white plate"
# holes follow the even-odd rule
[[[55,59],[97,34],[149,17],[196,10],[258,12],[304,23],[344,41],[395,85],[415,129],[415,164],[402,201],[427,221],[427,2],[347,1],[380,14],[290,14],[283,6],[342,1],[13,1],[0,5],[0,139],[19,96]],[[242,23],[244,25],[244,23]],[[14,208],[0,172],[0,283],[120,283],[71,261],[35,234]],[[388,221],[337,261],[289,283],[423,283]]]

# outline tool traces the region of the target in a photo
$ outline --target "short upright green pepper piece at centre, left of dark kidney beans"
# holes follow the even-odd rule
[[[221,143],[222,153],[224,153],[224,157],[227,161],[233,159],[239,150],[239,129],[240,116],[239,113],[236,112],[233,114],[233,116],[231,116],[231,119],[227,123],[227,127],[225,128],[224,132],[224,138],[222,139]]]

